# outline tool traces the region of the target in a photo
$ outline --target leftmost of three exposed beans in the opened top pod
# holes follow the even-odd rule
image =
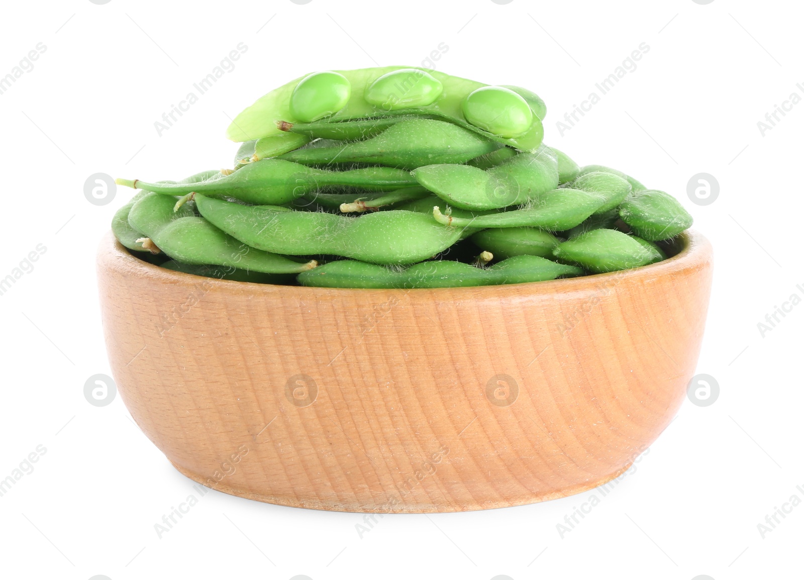
[[[305,76],[290,95],[293,119],[310,123],[338,113],[349,102],[351,83],[339,72],[322,71]],[[260,135],[263,137],[263,135]]]

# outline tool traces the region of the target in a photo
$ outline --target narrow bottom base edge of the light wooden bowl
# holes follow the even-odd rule
[[[562,497],[574,496],[578,493],[588,492],[591,489],[600,487],[609,483],[613,479],[617,479],[620,475],[628,471],[633,465],[629,463],[626,467],[615,471],[611,475],[605,475],[600,479],[591,482],[579,483],[552,492],[544,494],[533,494],[531,496],[520,496],[512,498],[510,501],[489,501],[485,503],[476,504],[397,504],[393,508],[388,509],[388,503],[385,504],[344,504],[340,502],[327,502],[318,499],[299,500],[296,497],[289,496],[266,496],[265,494],[251,492],[248,490],[231,487],[222,483],[216,483],[214,486],[209,485],[209,477],[206,475],[199,475],[193,473],[183,467],[178,467],[172,461],[170,465],[176,468],[176,471],[185,477],[192,479],[196,483],[200,483],[204,487],[214,489],[216,492],[226,493],[229,496],[243,497],[247,500],[261,501],[265,504],[284,505],[289,508],[306,508],[306,509],[320,509],[326,512],[356,512],[356,513],[447,513],[447,512],[474,512],[482,509],[496,509],[496,508],[513,508],[517,505],[539,504],[543,501],[558,500]]]

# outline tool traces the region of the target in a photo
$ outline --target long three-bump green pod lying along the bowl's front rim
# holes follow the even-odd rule
[[[362,261],[338,260],[299,274],[297,280],[303,286],[327,288],[453,288],[542,282],[580,274],[583,270],[576,266],[543,257],[517,256],[489,268],[459,261],[434,260],[401,271]]]

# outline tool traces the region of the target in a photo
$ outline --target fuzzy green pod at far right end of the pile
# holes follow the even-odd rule
[[[620,217],[644,240],[668,240],[692,225],[692,216],[675,197],[648,189],[639,191],[622,202]]]

